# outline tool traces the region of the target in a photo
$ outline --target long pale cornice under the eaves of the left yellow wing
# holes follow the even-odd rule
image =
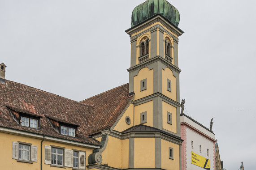
[[[25,137],[32,137],[35,139],[43,139],[42,134],[25,132],[25,131],[16,130],[13,128],[7,128],[7,127],[0,127],[0,132],[9,133],[9,134],[13,134],[13,135],[19,135],[19,136],[25,136]],[[100,145],[93,145],[93,144],[87,144],[87,143],[82,143],[82,142],[80,143],[77,141],[65,140],[65,139],[56,138],[56,137],[52,137],[52,136],[46,136],[46,135],[44,135],[44,136],[45,136],[44,139],[48,140],[48,141],[59,142],[59,143],[63,143],[63,144],[71,144],[71,145],[80,146],[83,148],[90,148],[90,149],[99,149],[100,148]]]

